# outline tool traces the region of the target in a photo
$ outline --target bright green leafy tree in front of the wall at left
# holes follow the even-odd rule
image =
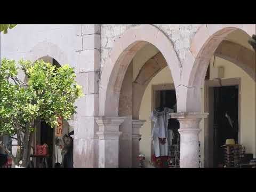
[[[45,121],[58,126],[58,116],[69,119],[75,112],[74,102],[82,96],[82,87],[75,82],[74,69],[68,65],[57,68],[49,62],[3,59],[0,67],[0,136],[9,135],[18,141],[15,165],[22,160],[27,167],[33,132]],[[19,67],[18,67],[19,66]],[[18,70],[26,81],[17,77]],[[17,136],[17,137],[14,137]]]

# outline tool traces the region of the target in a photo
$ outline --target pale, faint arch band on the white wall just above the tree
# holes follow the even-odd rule
[[[58,45],[46,41],[39,42],[37,45],[35,45],[25,56],[25,59],[36,61],[42,57],[54,58],[61,66],[69,63],[66,54],[59,48]]]

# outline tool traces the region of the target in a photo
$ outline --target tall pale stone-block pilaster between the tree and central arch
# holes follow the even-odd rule
[[[75,39],[76,81],[84,96],[75,103],[74,167],[98,167],[98,125],[94,117],[99,116],[100,25],[77,25]]]

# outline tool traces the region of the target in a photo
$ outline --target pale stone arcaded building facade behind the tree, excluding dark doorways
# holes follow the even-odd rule
[[[171,116],[179,121],[180,167],[199,166],[198,141],[202,166],[211,167],[209,87],[238,87],[237,142],[255,158],[255,51],[247,43],[255,28],[18,25],[1,34],[1,58],[50,57],[74,67],[84,93],[68,121],[74,167],[137,167],[139,153],[150,159],[154,90],[175,90],[177,113]]]

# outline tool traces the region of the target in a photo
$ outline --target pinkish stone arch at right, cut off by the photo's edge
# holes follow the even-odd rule
[[[180,93],[185,95],[185,106],[183,106],[184,111],[201,111],[200,88],[204,81],[209,61],[215,54],[215,52],[217,53],[217,55],[221,55],[222,58],[232,60],[232,62],[234,62],[239,67],[241,67],[242,65],[246,65],[246,63],[242,64],[241,62],[247,62],[245,61],[245,58],[242,58],[242,55],[240,57],[232,58],[236,54],[223,52],[221,51],[221,47],[219,46],[221,44],[226,44],[227,46],[225,38],[236,30],[241,30],[244,35],[249,37],[250,34],[255,33],[255,25],[203,25],[197,31],[196,35],[191,41],[190,51],[187,53],[185,58],[185,62],[189,62],[189,65],[186,65],[186,69],[183,69],[183,71],[186,72],[184,73],[186,75],[182,75],[181,80],[182,85],[186,86],[180,91]],[[238,50],[244,50],[244,48],[239,45]],[[249,54],[253,55],[253,53]],[[250,68],[248,69],[246,67],[242,67],[242,69],[244,69],[245,71],[247,70],[247,72],[251,70]],[[251,77],[253,78],[253,76]]]

